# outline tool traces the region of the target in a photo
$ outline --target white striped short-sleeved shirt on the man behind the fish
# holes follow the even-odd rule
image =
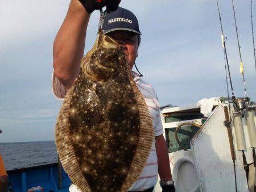
[[[133,75],[133,80],[136,82],[138,89],[141,91],[146,104],[148,106],[148,110],[150,115],[152,116],[154,129],[155,129],[155,136],[159,136],[163,134],[163,126],[160,118],[160,108],[158,103],[158,97],[155,93],[155,90],[150,84],[147,84],[146,81],[143,80],[144,77],[139,77],[137,73],[131,72]],[[55,77],[54,73],[52,76],[52,90],[54,95],[59,98],[63,99],[67,90],[65,87],[60,83],[60,81]],[[155,186],[156,182],[158,181],[158,158],[156,156],[156,149],[155,149],[155,140],[152,144],[150,156],[148,157],[146,166],[139,177],[138,181],[136,181],[133,186],[129,189],[129,191],[144,191]],[[81,192],[77,189],[76,185],[72,184],[69,187],[70,192]]]

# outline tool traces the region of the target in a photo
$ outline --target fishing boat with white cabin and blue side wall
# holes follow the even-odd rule
[[[254,191],[256,104],[241,98],[234,106],[229,102],[227,98],[210,98],[201,107],[162,109],[176,191]],[[202,113],[204,106],[209,108],[208,118]],[[8,174],[9,189],[15,192],[36,186],[65,192],[71,183],[60,163],[9,170]],[[158,183],[155,191],[162,191]]]

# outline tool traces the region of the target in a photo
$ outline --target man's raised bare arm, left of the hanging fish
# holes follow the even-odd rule
[[[71,0],[53,44],[53,68],[55,76],[69,89],[80,72],[84,55],[86,28],[90,15],[78,0]]]

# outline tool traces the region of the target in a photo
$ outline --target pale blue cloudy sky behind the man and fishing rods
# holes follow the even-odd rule
[[[250,1],[235,0],[247,94],[256,100]],[[0,6],[0,143],[54,140],[61,101],[51,90],[52,44],[69,1],[3,1]],[[160,105],[193,105],[226,96],[224,55],[216,1],[135,1],[121,6],[137,15],[142,32],[137,66]],[[254,3],[254,10],[256,3]],[[220,0],[234,90],[243,96],[232,1]],[[96,39],[93,12],[85,52]],[[256,11],[254,23],[256,26]],[[254,27],[254,31],[256,28]],[[256,38],[256,37],[255,37]]]

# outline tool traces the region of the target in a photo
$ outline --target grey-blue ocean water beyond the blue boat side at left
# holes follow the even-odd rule
[[[3,157],[6,170],[57,162],[54,141],[0,143],[0,155]]]

